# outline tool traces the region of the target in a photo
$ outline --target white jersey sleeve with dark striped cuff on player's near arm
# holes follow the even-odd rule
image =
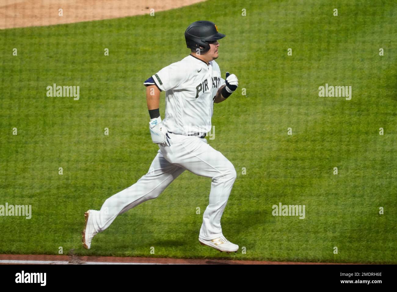
[[[184,70],[180,62],[176,62],[152,75],[152,80],[160,90],[167,91],[178,88],[179,85],[184,83],[186,76],[186,70]]]

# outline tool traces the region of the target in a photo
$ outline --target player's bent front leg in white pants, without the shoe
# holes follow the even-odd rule
[[[207,144],[205,138],[169,134],[171,147],[160,147],[164,157],[196,175],[212,179],[209,205],[203,214],[200,238],[212,240],[222,236],[221,217],[236,179],[233,164]]]

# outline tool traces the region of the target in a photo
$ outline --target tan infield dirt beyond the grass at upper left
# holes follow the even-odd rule
[[[0,29],[112,19],[150,12],[156,15],[159,11],[198,2],[204,0],[2,0]]]

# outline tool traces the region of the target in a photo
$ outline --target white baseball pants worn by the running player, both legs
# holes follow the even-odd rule
[[[108,198],[100,211],[93,211],[94,228],[104,231],[117,215],[157,198],[185,169],[212,179],[209,205],[203,214],[200,238],[222,236],[220,220],[236,179],[233,164],[212,148],[205,138],[168,132],[171,146],[160,146],[148,173],[135,184]]]

